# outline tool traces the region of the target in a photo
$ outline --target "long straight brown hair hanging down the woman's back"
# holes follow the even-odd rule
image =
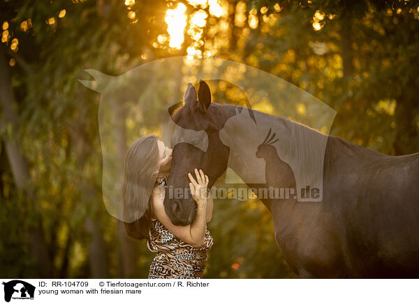
[[[150,198],[159,172],[159,145],[155,135],[141,137],[125,156],[124,202],[125,231],[138,240],[148,238],[152,227]]]

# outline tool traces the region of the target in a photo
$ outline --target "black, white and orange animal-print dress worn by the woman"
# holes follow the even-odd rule
[[[158,178],[157,183],[166,186],[167,176]],[[159,220],[153,220],[149,229],[147,249],[156,252],[149,269],[149,279],[182,278],[200,279],[203,277],[207,251],[213,244],[210,231],[205,227],[205,241],[200,248],[185,243],[172,234]]]

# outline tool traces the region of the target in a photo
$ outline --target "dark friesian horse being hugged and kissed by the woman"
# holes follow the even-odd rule
[[[265,160],[265,187],[296,186],[290,158],[279,155],[274,145],[289,146],[296,134],[308,142],[326,139],[321,202],[261,198],[272,213],[277,244],[300,278],[419,277],[419,153],[384,155],[288,119],[219,105],[211,102],[210,89],[202,81],[198,96],[189,84],[184,99],[182,107],[169,112],[177,126],[195,132],[196,138],[175,143],[169,186],[187,188],[187,172],[200,168],[212,187],[226,172],[233,147],[221,140],[221,130],[237,112],[253,112],[263,118],[258,121],[264,131],[255,158]],[[272,124],[277,127],[267,135]],[[234,136],[246,142],[249,132],[234,130]],[[206,149],[199,149],[203,140]],[[247,171],[237,174],[250,188],[257,187],[247,182]],[[175,225],[189,225],[196,215],[191,198],[170,199],[166,193],[164,205]]]

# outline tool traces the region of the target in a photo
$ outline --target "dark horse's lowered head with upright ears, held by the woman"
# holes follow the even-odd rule
[[[210,87],[201,80],[198,94],[189,83],[184,104],[169,108],[177,128],[172,137],[172,167],[163,204],[173,225],[189,225],[196,216],[196,202],[191,195],[176,195],[179,189],[189,193],[187,174],[202,169],[210,180],[210,189],[227,168],[229,149],[221,142],[219,130],[228,117],[211,99]]]

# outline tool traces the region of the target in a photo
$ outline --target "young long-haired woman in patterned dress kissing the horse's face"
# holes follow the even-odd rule
[[[125,158],[123,185],[126,234],[147,239],[156,252],[148,278],[202,278],[207,251],[213,244],[207,230],[212,217],[212,197],[207,198],[208,176],[189,173],[189,189],[198,209],[191,225],[173,225],[163,206],[166,181],[172,163],[169,149],[154,135],[137,139]]]

